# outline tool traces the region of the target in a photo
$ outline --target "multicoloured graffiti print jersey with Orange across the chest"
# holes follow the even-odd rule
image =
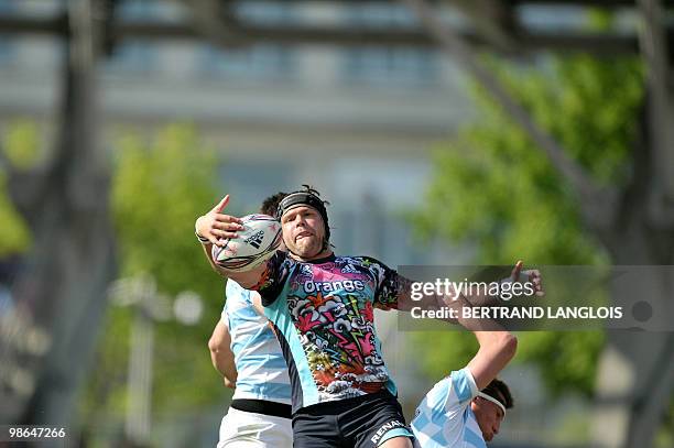
[[[395,385],[381,357],[373,308],[398,308],[409,283],[377,260],[298,262],[283,252],[259,284],[289,364],[293,412]]]

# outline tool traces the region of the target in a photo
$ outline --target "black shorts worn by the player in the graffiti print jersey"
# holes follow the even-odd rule
[[[413,438],[400,403],[385,389],[303,407],[293,415],[294,448],[374,448],[396,436]]]

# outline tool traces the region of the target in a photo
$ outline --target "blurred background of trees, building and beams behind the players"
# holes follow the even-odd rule
[[[215,446],[225,194],[390,266],[674,264],[673,53],[668,0],[0,0],[0,425]],[[477,346],[377,318],[410,418]],[[674,447],[672,332],[519,338],[491,446]]]

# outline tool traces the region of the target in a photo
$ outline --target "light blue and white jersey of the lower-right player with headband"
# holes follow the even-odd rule
[[[414,414],[412,431],[422,448],[486,448],[470,401],[478,394],[468,368],[439,381]]]

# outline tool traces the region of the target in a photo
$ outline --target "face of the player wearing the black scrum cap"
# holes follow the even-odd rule
[[[300,206],[281,217],[283,241],[287,249],[302,259],[312,259],[323,250],[325,223],[313,207]]]

